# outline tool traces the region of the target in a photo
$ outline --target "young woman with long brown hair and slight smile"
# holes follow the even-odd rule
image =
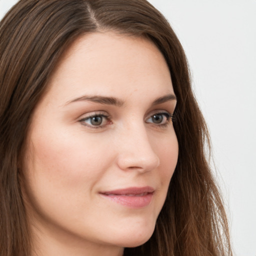
[[[182,47],[145,0],[20,0],[0,23],[1,255],[231,255]]]

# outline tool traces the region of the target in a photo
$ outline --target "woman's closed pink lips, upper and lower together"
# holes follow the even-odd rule
[[[144,186],[103,191],[100,195],[129,208],[143,208],[152,201],[153,192],[153,187]]]

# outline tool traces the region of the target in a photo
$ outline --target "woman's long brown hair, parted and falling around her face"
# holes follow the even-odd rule
[[[64,50],[95,31],[143,36],[169,66],[177,97],[176,169],[152,237],[124,255],[232,255],[222,200],[206,160],[209,137],[186,57],[166,19],[146,0],[20,0],[0,22],[0,255],[31,255],[20,193],[31,113]]]

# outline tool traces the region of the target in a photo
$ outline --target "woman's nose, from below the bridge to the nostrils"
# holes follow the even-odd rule
[[[122,170],[146,172],[159,166],[160,160],[150,143],[144,125],[132,125],[118,139],[117,164]]]

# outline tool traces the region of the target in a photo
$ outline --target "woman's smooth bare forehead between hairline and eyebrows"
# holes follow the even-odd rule
[[[173,93],[163,55],[146,38],[113,32],[91,33],[74,41],[49,82],[55,97],[66,91],[66,101],[79,93],[101,94],[104,90],[106,96],[125,96],[146,89]]]

